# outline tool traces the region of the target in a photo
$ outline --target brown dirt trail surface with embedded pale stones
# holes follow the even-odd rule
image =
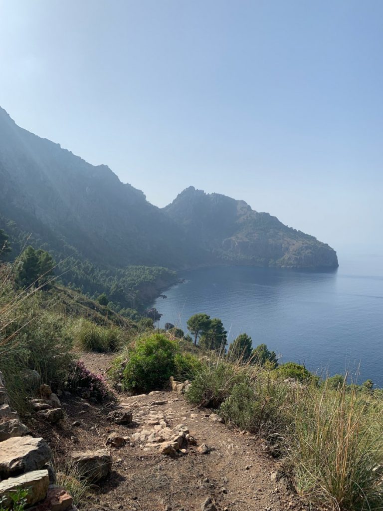
[[[82,358],[90,370],[99,373],[105,372],[110,362],[102,355]],[[285,480],[279,480],[278,464],[266,454],[260,440],[219,422],[211,410],[190,405],[177,392],[134,397],[120,393],[112,408],[68,396],[62,405],[70,428],[44,432],[58,458],[64,460],[72,451],[103,449],[114,433],[107,446],[113,456],[112,472],[92,491],[87,509],[305,508]],[[122,425],[108,421],[107,414],[115,409],[132,411],[133,422]],[[170,445],[167,451],[166,445]]]

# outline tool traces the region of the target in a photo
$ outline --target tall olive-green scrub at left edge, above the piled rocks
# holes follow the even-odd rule
[[[9,275],[9,267],[4,266],[0,275],[0,369],[11,404],[22,414],[28,409],[29,389],[20,371],[37,370],[44,383],[59,388],[73,356],[66,318],[55,311],[42,291],[15,291]]]

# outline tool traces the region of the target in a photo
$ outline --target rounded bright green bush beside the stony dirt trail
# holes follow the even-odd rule
[[[178,345],[162,334],[139,339],[123,370],[123,389],[148,392],[162,388],[175,373],[178,352]]]

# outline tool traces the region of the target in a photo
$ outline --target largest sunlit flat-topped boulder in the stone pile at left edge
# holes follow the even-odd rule
[[[0,478],[40,470],[52,459],[45,440],[32,436],[14,436],[4,440],[0,449]]]

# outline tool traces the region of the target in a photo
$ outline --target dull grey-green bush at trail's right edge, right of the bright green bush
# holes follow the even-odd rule
[[[239,366],[225,362],[205,361],[190,385],[186,398],[192,403],[218,408],[229,396],[233,386],[245,377]]]

